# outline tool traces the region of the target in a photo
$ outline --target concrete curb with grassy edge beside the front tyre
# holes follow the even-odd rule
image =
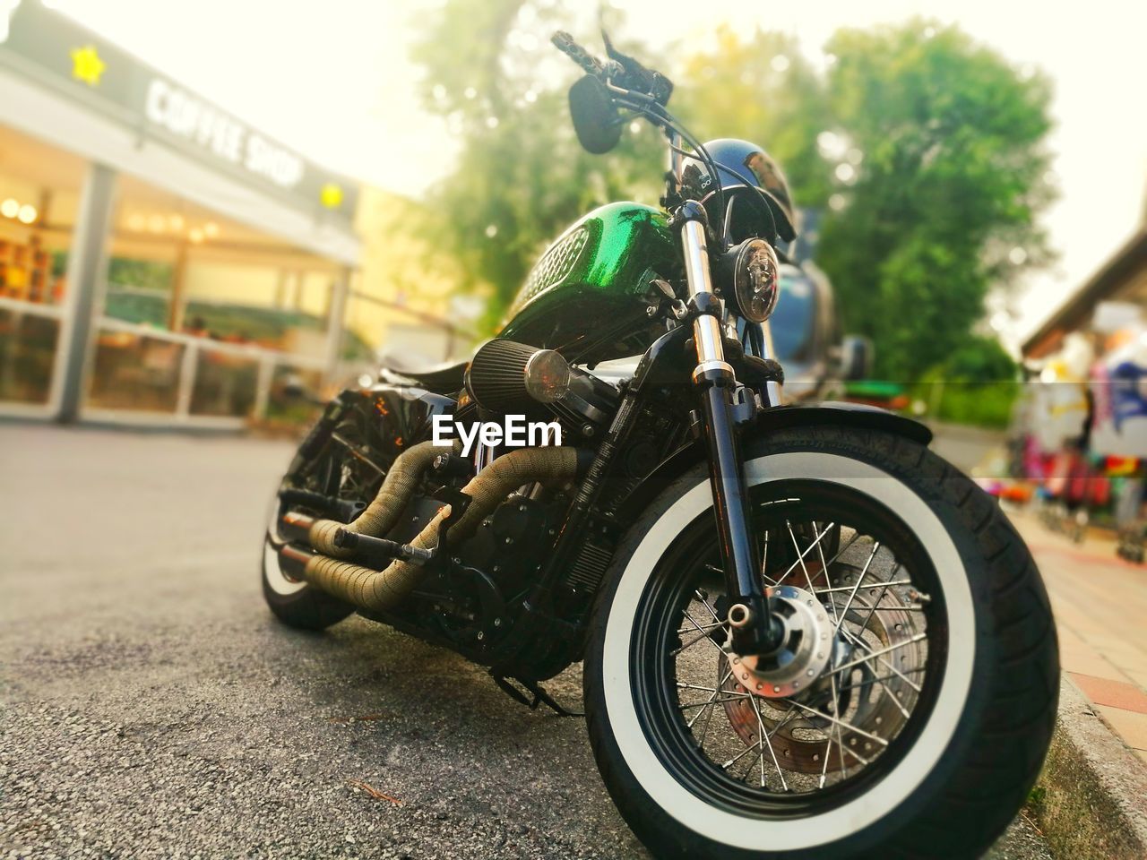
[[[1147,858],[1147,767],[1067,675],[1052,749],[1029,808],[1056,858]]]

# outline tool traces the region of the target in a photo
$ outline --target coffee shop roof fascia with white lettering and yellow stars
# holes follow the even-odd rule
[[[358,185],[294,153],[39,2],[0,40],[0,123],[278,240],[359,260]],[[99,58],[81,79],[77,52]],[[197,118],[198,124],[184,123]]]

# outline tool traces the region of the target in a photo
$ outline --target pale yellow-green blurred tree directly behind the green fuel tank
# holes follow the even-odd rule
[[[434,229],[467,272],[491,290],[487,326],[500,319],[549,241],[590,209],[657,200],[656,132],[634,126],[608,156],[585,153],[569,122],[565,89],[576,68],[549,47],[568,25],[549,5],[450,0],[413,58],[423,96],[462,146],[431,193]],[[560,81],[560,86],[554,83]]]

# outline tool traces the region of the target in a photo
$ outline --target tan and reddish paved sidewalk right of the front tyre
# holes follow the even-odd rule
[[[1116,557],[1113,541],[1072,544],[1033,516],[1011,517],[1047,585],[1063,672],[1147,763],[1147,565]]]

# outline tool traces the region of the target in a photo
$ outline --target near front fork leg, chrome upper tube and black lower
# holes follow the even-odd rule
[[[744,461],[732,413],[736,376],[725,360],[720,302],[713,295],[709,272],[705,211],[700,203],[687,201],[678,210],[676,220],[681,228],[685,275],[694,312],[697,366],[693,370],[693,384],[701,397],[702,429],[709,446],[709,478],[729,596],[733,649],[742,655],[765,654],[780,643],[783,624],[773,612],[757,557]]]

